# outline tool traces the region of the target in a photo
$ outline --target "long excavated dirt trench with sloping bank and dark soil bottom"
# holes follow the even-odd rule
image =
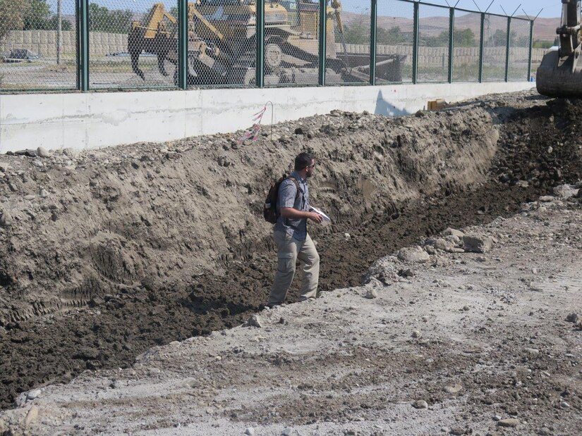
[[[1,406],[257,310],[274,271],[262,199],[298,151],[317,155],[313,201],[334,219],[312,228],[326,291],[399,247],[579,180],[581,113],[516,94],[396,119],[334,112],[243,147],[214,135],[1,156]]]

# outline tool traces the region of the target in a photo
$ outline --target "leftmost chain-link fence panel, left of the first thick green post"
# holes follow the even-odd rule
[[[0,0],[0,90],[75,89],[75,0]]]

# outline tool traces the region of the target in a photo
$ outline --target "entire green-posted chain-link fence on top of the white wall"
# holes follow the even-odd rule
[[[0,91],[526,80],[531,21],[508,22],[411,0],[0,0]]]

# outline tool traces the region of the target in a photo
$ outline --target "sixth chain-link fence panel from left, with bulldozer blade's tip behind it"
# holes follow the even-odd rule
[[[414,6],[378,0],[376,83],[411,83],[414,46]]]

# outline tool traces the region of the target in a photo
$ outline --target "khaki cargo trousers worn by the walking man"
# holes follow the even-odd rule
[[[273,232],[277,244],[277,273],[271,288],[268,305],[281,304],[285,301],[287,291],[293,282],[297,259],[303,263],[303,280],[301,284],[301,300],[315,298],[317,283],[320,280],[320,255],[309,235],[301,242],[286,232]]]

